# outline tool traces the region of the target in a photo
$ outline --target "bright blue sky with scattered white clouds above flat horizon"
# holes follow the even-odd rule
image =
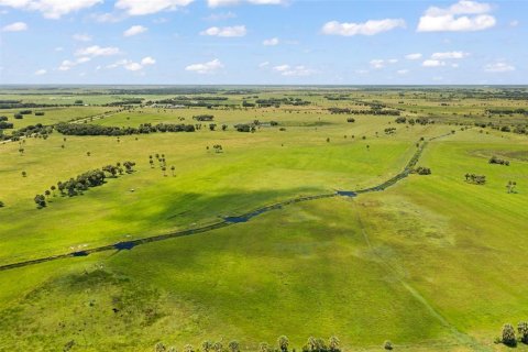
[[[525,85],[528,1],[0,0],[0,85]]]

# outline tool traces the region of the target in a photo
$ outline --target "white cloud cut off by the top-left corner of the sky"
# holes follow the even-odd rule
[[[65,14],[91,8],[102,0],[0,0],[0,6],[19,10],[40,11],[46,19],[59,19]]]

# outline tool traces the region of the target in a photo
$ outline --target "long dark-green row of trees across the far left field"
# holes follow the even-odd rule
[[[195,132],[193,124],[151,123],[140,124],[139,128],[107,127],[89,123],[57,123],[55,130],[66,135],[130,135],[155,132]]]

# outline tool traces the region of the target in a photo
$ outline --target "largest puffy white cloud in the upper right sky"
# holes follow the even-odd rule
[[[496,20],[488,14],[492,7],[471,0],[460,0],[449,8],[430,7],[420,18],[418,32],[468,32],[493,28]]]

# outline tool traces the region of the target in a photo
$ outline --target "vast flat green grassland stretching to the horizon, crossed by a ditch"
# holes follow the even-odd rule
[[[1,351],[510,351],[526,88],[148,89],[3,89],[20,108],[0,109]]]

